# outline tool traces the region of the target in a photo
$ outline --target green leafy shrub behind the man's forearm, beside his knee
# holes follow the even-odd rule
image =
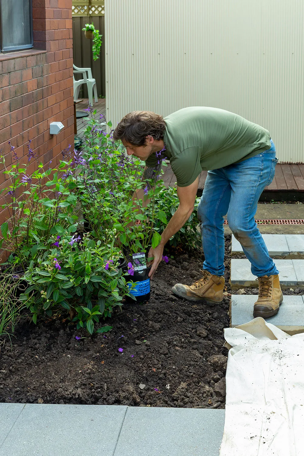
[[[174,247],[181,245],[183,248],[193,249],[201,246],[201,235],[197,231],[197,226],[200,224],[197,218],[197,206],[200,198],[196,198],[194,212],[185,225],[180,228],[172,238],[170,245]],[[155,229],[162,233],[167,226],[172,215],[175,213],[179,205],[179,199],[175,187],[162,188],[155,198],[155,211],[158,211],[156,218]]]

